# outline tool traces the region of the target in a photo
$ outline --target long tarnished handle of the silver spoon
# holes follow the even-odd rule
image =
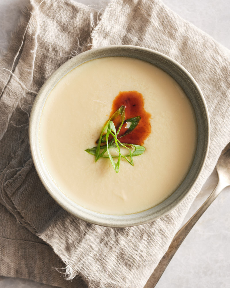
[[[189,231],[193,228],[199,218],[203,215],[204,211],[210,206],[210,204],[216,199],[216,197],[220,194],[220,192],[227,187],[228,185],[222,181],[218,181],[215,189],[212,191],[207,200],[200,206],[200,208],[196,211],[196,213],[185,223],[185,225],[177,232],[175,237],[173,238],[168,250],[156,266],[154,272],[148,279],[144,288],[154,288],[162,276],[164,270],[168,266],[170,260],[173,258],[177,249],[180,247],[181,243],[185,239],[185,237],[189,234]]]

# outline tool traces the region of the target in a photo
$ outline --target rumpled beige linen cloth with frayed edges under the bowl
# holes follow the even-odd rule
[[[70,0],[31,0],[1,60],[1,275],[59,287],[143,287],[230,140],[229,50],[158,0],[115,0],[97,17]],[[211,123],[206,165],[189,196],[168,215],[132,228],[69,215],[41,184],[28,146],[31,105],[45,80],[70,57],[114,44],[147,47],[181,63],[203,91]]]

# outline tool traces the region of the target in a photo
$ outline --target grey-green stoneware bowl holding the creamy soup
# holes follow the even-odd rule
[[[159,205],[129,215],[106,215],[88,210],[66,197],[49,177],[39,151],[39,120],[46,98],[59,80],[78,65],[89,60],[108,56],[137,58],[154,64],[172,76],[183,88],[196,113],[198,144],[193,164],[177,190]],[[108,46],[84,52],[59,67],[43,84],[34,101],[29,122],[29,141],[37,173],[53,199],[72,215],[87,222],[109,227],[128,227],[153,221],[174,209],[195,185],[204,166],[210,138],[208,110],[204,96],[193,77],[179,63],[159,52],[137,46]],[[166,179],[167,181],[167,179]]]

